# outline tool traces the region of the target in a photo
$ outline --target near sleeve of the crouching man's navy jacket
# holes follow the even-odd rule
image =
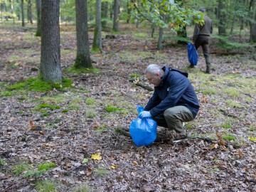
[[[163,113],[169,107],[176,106],[178,100],[181,99],[183,93],[187,90],[189,82],[188,79],[180,75],[172,75],[169,92],[162,102],[159,103],[156,107],[150,110],[152,117],[156,117],[157,115]]]

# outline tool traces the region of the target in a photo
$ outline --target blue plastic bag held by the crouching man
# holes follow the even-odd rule
[[[138,106],[137,111],[144,111],[144,107]],[[151,118],[138,117],[132,120],[129,132],[136,146],[147,146],[156,140],[156,122]]]

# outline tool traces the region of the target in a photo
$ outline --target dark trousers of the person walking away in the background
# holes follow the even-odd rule
[[[210,68],[210,37],[198,36],[195,42],[196,50],[202,46],[203,56],[206,59],[206,66]]]

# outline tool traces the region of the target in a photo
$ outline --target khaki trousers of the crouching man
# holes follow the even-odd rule
[[[165,110],[164,113],[153,117],[153,119],[156,121],[158,126],[174,129],[177,133],[182,133],[184,132],[182,123],[190,122],[195,118],[187,107],[179,105],[170,107]]]

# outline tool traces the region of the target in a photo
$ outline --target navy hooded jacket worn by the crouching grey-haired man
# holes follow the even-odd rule
[[[164,67],[163,70],[161,85],[154,87],[154,94],[144,110],[149,111],[152,117],[156,117],[170,107],[183,105],[191,111],[193,117],[196,117],[199,103],[191,82],[181,73],[169,70],[168,67]]]

